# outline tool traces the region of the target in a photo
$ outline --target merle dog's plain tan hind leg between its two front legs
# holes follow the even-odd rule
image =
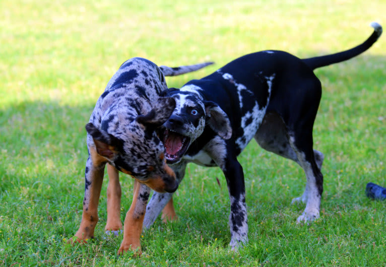
[[[107,222],[104,230],[116,231],[122,229],[120,221],[120,197],[122,191],[119,184],[119,172],[115,167],[107,164]]]

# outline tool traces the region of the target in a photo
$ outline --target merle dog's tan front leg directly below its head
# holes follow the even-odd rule
[[[135,180],[133,202],[132,202],[132,205],[130,206],[130,209],[126,213],[126,218],[124,219],[123,240],[118,249],[118,255],[123,254],[125,251],[129,249],[136,251],[136,253],[138,254],[142,254],[140,235],[142,232],[142,224],[145,217],[146,205],[143,205],[142,215],[141,214],[140,216],[134,215],[134,211],[136,209],[137,202],[138,202],[139,191],[140,191],[139,181]],[[138,210],[138,207],[137,207],[137,210]]]

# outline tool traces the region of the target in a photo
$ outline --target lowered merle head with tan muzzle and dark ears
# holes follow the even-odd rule
[[[117,170],[130,174],[158,192],[174,192],[178,183],[175,173],[166,164],[165,147],[156,131],[169,118],[174,107],[173,98],[162,97],[148,114],[139,115],[130,123],[119,123],[119,116],[114,116],[118,117],[115,126],[109,123],[113,126],[104,129],[88,123],[86,130],[98,155]],[[102,121],[101,125],[105,124]]]

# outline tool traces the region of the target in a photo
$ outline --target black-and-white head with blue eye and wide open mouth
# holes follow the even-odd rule
[[[227,114],[212,101],[198,93],[197,86],[170,88],[164,94],[175,99],[176,107],[163,124],[160,137],[165,144],[165,157],[174,164],[182,159],[189,146],[204,132],[206,125],[223,139],[230,139],[232,128]]]

